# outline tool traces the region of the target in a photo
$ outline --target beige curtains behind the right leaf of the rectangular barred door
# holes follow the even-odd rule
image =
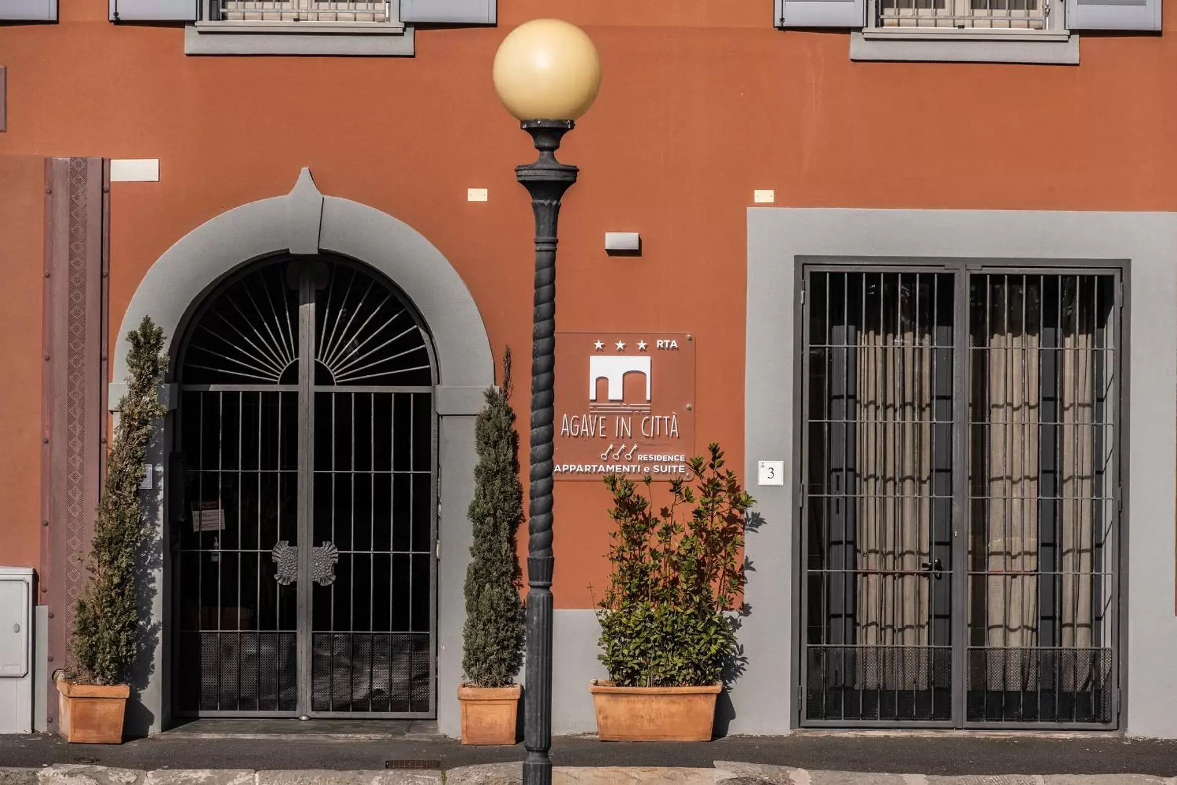
[[[1057,327],[1060,344],[1040,345],[1040,298],[1022,301],[1029,297],[1025,288],[1040,280],[1009,277],[1003,307],[1022,310],[1029,328],[988,331],[984,351],[975,351],[971,362],[969,643],[984,653],[970,656],[970,688],[1084,688],[1090,672],[1083,664],[1090,660],[1082,653],[1064,660],[1055,650],[1090,647],[1093,626],[1106,618],[1095,593],[1096,573],[1105,570],[1095,563],[1095,541],[1099,520],[1111,520],[1109,500],[1100,498],[1110,492],[1099,487],[1096,475],[1111,477],[1111,452],[1109,447],[1096,454],[1096,445],[1111,444],[1111,425],[1097,424],[1096,412],[1100,398],[1105,411],[1112,411],[1113,362],[1110,352],[1096,348],[1095,298],[1088,304],[1078,295],[1075,277],[1060,277],[1060,295],[1051,292],[1059,297],[1062,317],[1048,326]],[[1089,305],[1091,311],[1084,312]],[[1110,326],[1106,334],[1110,340]],[[1053,353],[1052,379],[1042,375],[1046,352]],[[1043,420],[1044,388],[1055,398],[1049,421]],[[1100,434],[1098,428],[1106,431]],[[1045,488],[1048,499],[1042,498],[1044,451],[1056,478],[1056,487]],[[1044,505],[1051,512],[1046,518]],[[1056,541],[1053,552],[1046,552],[1050,563],[1040,558],[1044,539]],[[1039,607],[1043,581],[1053,583],[1055,591],[1046,596],[1053,596],[1055,607]],[[1110,580],[1104,591],[1110,591]],[[1044,619],[1056,634],[1044,636]],[[1033,651],[1040,646],[1046,647],[1042,654]]]

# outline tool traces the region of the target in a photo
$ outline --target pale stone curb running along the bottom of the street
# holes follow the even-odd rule
[[[118,769],[54,764],[0,766],[0,785],[519,785],[523,764],[496,763],[435,770]],[[1149,774],[900,774],[817,771],[716,760],[686,766],[557,766],[552,785],[1177,785]]]

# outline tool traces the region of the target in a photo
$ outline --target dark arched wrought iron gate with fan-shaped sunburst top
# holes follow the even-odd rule
[[[411,304],[350,261],[267,260],[201,306],[177,374],[178,714],[433,714],[433,368]]]

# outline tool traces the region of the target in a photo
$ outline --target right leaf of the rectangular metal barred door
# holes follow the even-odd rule
[[[1112,388],[1112,350],[1105,342],[1110,298],[1102,292],[1110,292],[1111,285],[1109,275],[973,277],[975,300],[977,287],[984,287],[985,321],[984,333],[973,337],[979,358],[972,367],[986,390],[993,390],[993,374],[1002,374],[1004,400],[988,394],[977,399],[980,387],[973,387],[972,430],[979,427],[982,437],[973,454],[984,451],[986,461],[984,475],[973,477],[973,494],[986,512],[971,523],[970,537],[971,545],[983,545],[971,560],[970,586],[984,588],[984,617],[971,623],[970,720],[1113,719],[1112,654],[1104,631],[1110,600],[1103,599],[1111,573],[1102,546],[1108,527],[1100,523],[1113,454],[1103,444],[1103,434],[1112,428],[1104,399]],[[1042,304],[1033,313],[1031,300]],[[1019,314],[1020,324],[1013,324]],[[1010,394],[1018,372],[1020,401]],[[1015,444],[1017,450],[1011,450]],[[1016,454],[1022,455],[1019,470],[1009,463]],[[1002,463],[995,466],[998,457]],[[1037,498],[1030,483],[1038,483]],[[985,528],[995,523],[1003,534],[1016,532],[1000,541],[996,554],[998,540]],[[1013,606],[1025,617],[1017,624],[1011,623]],[[995,645],[991,627],[998,613],[1003,619]],[[1044,711],[1044,697],[1052,698],[1050,712]]]

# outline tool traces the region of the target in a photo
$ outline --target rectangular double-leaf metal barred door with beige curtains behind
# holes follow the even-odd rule
[[[802,721],[1117,721],[1116,271],[807,267]]]

